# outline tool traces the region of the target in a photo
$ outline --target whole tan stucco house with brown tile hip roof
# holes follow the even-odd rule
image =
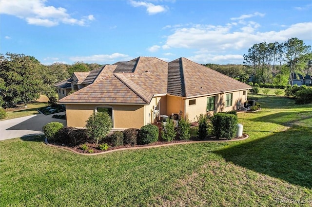
[[[113,130],[140,128],[160,121],[161,115],[179,114],[197,121],[200,114],[238,109],[251,89],[186,58],[167,63],[137,57],[85,74],[75,73],[56,85],[59,89],[68,82],[78,86],[78,91],[58,102],[66,105],[67,126],[85,127],[90,115],[99,111],[110,114]]]

